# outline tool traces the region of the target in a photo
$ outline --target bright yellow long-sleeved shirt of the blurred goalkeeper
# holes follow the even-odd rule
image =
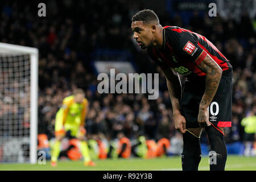
[[[64,98],[63,105],[57,111],[55,121],[55,131],[62,129],[71,130],[76,135],[79,126],[84,126],[85,117],[88,109],[88,100],[84,98],[81,104],[74,101],[74,96]]]

